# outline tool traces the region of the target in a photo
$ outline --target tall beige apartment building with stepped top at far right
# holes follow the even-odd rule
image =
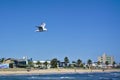
[[[108,61],[109,64],[113,64],[114,57],[113,56],[108,56],[104,53],[102,56],[98,57],[98,61],[100,61],[101,63],[105,63],[106,61]]]

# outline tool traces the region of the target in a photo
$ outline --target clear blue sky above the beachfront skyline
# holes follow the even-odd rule
[[[47,32],[35,32],[46,23]],[[0,58],[120,62],[120,0],[0,0]]]

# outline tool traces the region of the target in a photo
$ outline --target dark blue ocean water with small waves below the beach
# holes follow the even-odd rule
[[[0,75],[0,80],[120,80],[120,72]]]

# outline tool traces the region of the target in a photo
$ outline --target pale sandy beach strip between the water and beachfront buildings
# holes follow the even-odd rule
[[[42,75],[42,74],[72,74],[72,73],[107,73],[120,72],[120,69],[39,69],[39,70],[22,70],[22,71],[0,71],[1,75]]]

